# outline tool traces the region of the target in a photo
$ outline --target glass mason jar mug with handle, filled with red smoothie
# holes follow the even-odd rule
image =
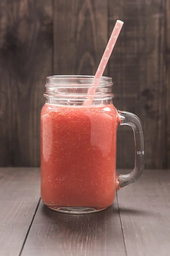
[[[93,76],[50,76],[41,111],[41,198],[60,212],[89,213],[109,207],[116,191],[133,184],[144,171],[142,124],[132,113],[117,111],[112,79],[102,77],[91,105]],[[133,128],[135,167],[116,172],[119,125]]]

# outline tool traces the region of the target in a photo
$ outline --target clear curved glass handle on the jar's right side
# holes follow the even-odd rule
[[[132,172],[127,175],[117,174],[118,187],[117,190],[125,186],[135,183],[144,172],[144,135],[142,130],[142,123],[140,119],[129,112],[118,111],[119,126],[130,125],[134,132],[135,139],[135,167]]]

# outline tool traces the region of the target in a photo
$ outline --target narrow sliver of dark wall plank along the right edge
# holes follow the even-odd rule
[[[170,0],[166,0],[166,84],[167,84],[167,108],[166,108],[166,118],[167,118],[167,164],[170,168]],[[165,166],[165,167],[166,167]]]

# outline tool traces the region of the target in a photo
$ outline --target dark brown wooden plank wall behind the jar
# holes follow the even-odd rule
[[[0,0],[0,166],[40,165],[45,77],[94,75],[117,19],[114,105],[142,120],[146,167],[170,168],[170,0]],[[134,165],[126,126],[117,165]]]

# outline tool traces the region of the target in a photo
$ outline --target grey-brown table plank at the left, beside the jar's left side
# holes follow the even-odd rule
[[[39,169],[0,168],[0,256],[19,256],[39,199]]]

